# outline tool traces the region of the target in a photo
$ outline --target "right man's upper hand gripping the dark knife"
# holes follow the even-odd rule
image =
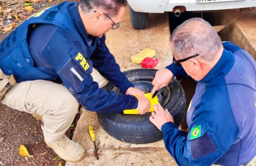
[[[151,94],[154,94],[156,90],[167,86],[171,79],[173,78],[173,73],[169,69],[160,69],[155,73],[155,78],[152,81],[152,85],[154,85]]]

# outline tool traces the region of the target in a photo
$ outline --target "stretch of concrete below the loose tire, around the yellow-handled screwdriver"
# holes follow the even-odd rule
[[[89,125],[95,128],[99,160],[96,159],[94,145],[88,132]],[[82,110],[73,140],[85,148],[86,156],[81,162],[66,162],[66,166],[161,166],[166,163],[169,166],[176,166],[162,140],[140,145],[119,141],[104,131],[96,113],[91,111]]]

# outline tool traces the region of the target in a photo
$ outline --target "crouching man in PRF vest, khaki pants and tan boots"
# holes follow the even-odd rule
[[[120,26],[126,4],[126,0],[63,2],[32,15],[0,44],[2,79],[14,76],[17,81],[1,102],[42,115],[46,144],[66,161],[77,162],[85,155],[81,145],[65,136],[79,103],[104,113],[136,108],[144,114],[150,109],[144,92],[120,71],[105,44],[104,34]],[[58,78],[64,86],[54,83]],[[106,80],[124,94],[102,89]],[[4,86],[9,84],[0,85]]]

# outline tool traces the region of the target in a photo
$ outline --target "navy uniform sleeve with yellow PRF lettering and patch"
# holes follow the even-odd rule
[[[65,34],[65,35],[64,35]],[[89,111],[116,113],[134,109],[138,100],[132,95],[117,94],[100,89],[91,76],[92,65],[84,48],[67,30],[58,28],[47,42],[42,54],[47,58],[63,84]],[[106,62],[108,63],[108,62]]]

